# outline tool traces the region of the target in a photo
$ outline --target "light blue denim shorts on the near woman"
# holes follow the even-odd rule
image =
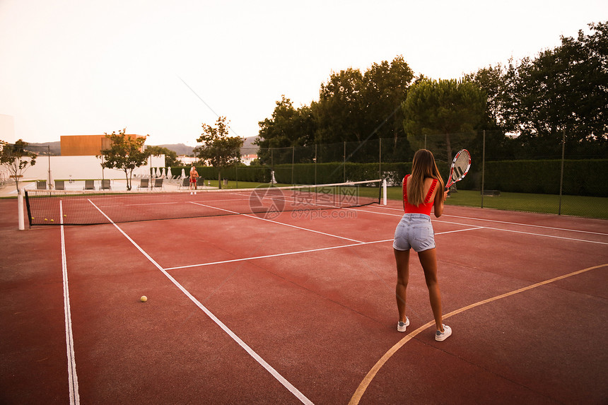
[[[414,249],[416,252],[435,247],[435,232],[431,217],[423,213],[404,213],[394,230],[392,247],[395,250]]]

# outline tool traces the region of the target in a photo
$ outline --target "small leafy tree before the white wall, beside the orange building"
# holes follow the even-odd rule
[[[146,164],[148,153],[144,152],[146,136],[130,136],[126,134],[127,129],[122,129],[105,137],[110,139],[110,148],[103,149],[98,158],[102,159],[102,168],[114,168],[122,170],[127,177],[127,190],[131,190],[131,178],[133,170]]]

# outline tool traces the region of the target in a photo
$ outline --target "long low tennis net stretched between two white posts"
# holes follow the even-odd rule
[[[379,204],[382,180],[255,189],[182,191],[25,190],[30,226],[93,225],[255,214],[341,209]]]

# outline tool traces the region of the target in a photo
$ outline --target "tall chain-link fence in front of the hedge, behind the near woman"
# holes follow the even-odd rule
[[[283,184],[381,178],[394,188],[390,196],[399,199],[399,186],[419,148],[433,152],[444,180],[457,151],[466,148],[472,154],[469,174],[456,184],[448,204],[608,219],[608,184],[602,181],[608,155],[601,147],[568,141],[566,131],[534,147],[501,132],[479,131],[260,148],[248,152],[257,153],[257,165],[225,171],[223,177]]]

